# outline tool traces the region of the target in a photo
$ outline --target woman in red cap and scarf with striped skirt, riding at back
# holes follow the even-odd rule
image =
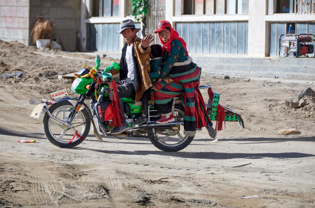
[[[161,113],[156,123],[165,124],[175,121],[172,114],[173,99],[185,93],[184,134],[196,133],[194,88],[199,84],[201,68],[188,56],[186,42],[179,37],[171,24],[162,20],[155,31],[163,44],[162,53],[165,64],[159,79],[153,84],[151,100],[155,110]]]

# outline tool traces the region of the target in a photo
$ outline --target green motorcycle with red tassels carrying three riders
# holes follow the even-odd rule
[[[42,99],[31,113],[31,117],[39,118],[45,111],[43,118],[43,130],[45,136],[54,145],[62,148],[71,148],[79,145],[88,136],[91,123],[93,133],[99,141],[103,141],[100,133],[105,137],[126,139],[128,137],[148,138],[152,144],[160,150],[174,152],[186,148],[191,142],[192,136],[183,134],[184,104],[181,99],[174,99],[175,121],[167,124],[157,124],[161,115],[154,110],[153,105],[148,106],[148,121],[141,125],[135,124],[135,119],[141,115],[142,103],[135,102],[132,98],[122,98],[126,121],[129,129],[121,134],[111,135],[113,127],[113,107],[109,99],[109,91],[114,82],[111,73],[98,70],[100,57],[96,57],[97,64],[92,69],[86,65],[79,70],[71,87],[71,91],[79,94],[77,98],[69,97],[70,89],[62,89],[50,93],[52,100]],[[114,66],[112,66],[115,68]],[[119,66],[116,66],[116,69]],[[201,85],[199,89],[209,89],[210,85]],[[219,94],[214,92],[213,99],[206,104],[211,121],[216,121],[216,110],[219,102]],[[87,102],[89,100],[89,102]],[[223,107],[223,106],[222,106]],[[244,127],[241,116],[234,111],[223,107],[225,120],[238,122]],[[206,126],[209,136],[216,137],[217,131],[212,123]],[[197,130],[201,130],[197,129]]]

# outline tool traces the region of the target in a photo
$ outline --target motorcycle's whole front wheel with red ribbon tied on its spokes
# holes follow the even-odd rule
[[[73,108],[73,105],[69,101],[61,101],[53,104],[49,108],[49,112],[54,117],[65,121]],[[80,110],[71,122],[71,126],[66,127],[49,117],[46,112],[43,119],[44,134],[47,139],[57,147],[75,147],[82,143],[83,139],[89,134],[91,126],[89,117],[89,112],[86,109]],[[74,136],[76,132],[81,138],[77,135]]]

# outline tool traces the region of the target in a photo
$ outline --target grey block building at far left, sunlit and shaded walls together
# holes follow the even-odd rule
[[[80,49],[81,0],[0,0],[0,39],[35,45],[31,29],[39,16],[52,23],[65,50]]]

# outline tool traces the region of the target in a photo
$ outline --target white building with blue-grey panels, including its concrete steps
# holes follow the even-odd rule
[[[168,20],[203,70],[247,76],[315,79],[315,59],[279,58],[278,37],[289,25],[315,33],[314,1],[150,0],[146,33]],[[119,57],[123,38],[115,31],[129,17],[129,0],[85,0],[81,5],[81,50]],[[140,34],[140,33],[139,33]],[[155,41],[158,42],[157,37]],[[314,44],[314,42],[313,42]]]

